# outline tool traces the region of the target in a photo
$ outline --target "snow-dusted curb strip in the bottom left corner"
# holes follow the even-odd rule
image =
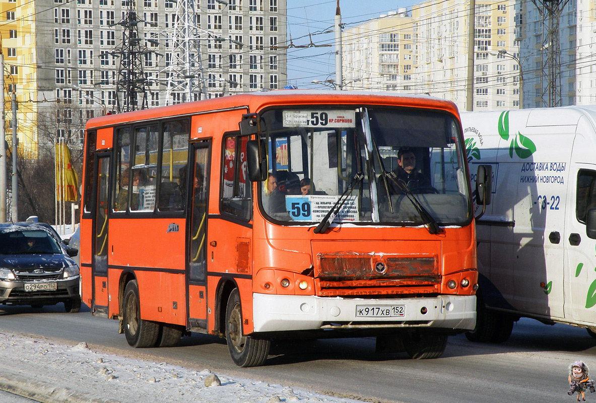
[[[113,400],[89,399],[68,388],[56,388],[47,382],[32,381],[16,374],[0,374],[0,389],[41,403],[116,403]]]

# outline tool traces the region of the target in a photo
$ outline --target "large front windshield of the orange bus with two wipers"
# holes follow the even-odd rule
[[[283,224],[465,225],[471,198],[454,116],[417,108],[303,107],[262,113],[265,216]]]

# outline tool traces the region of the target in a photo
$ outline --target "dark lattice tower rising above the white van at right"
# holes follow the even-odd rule
[[[561,41],[559,23],[569,0],[532,0],[542,14],[542,104],[561,106]]]

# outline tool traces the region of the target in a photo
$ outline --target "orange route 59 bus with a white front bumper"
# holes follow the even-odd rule
[[[250,367],[274,339],[376,336],[436,358],[476,323],[451,102],[275,91],[114,114],[87,123],[83,169],[83,302],[131,346],[216,334]]]

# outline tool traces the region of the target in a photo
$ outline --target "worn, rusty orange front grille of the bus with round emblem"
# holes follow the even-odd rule
[[[315,278],[321,295],[437,293],[436,256],[317,256]]]

